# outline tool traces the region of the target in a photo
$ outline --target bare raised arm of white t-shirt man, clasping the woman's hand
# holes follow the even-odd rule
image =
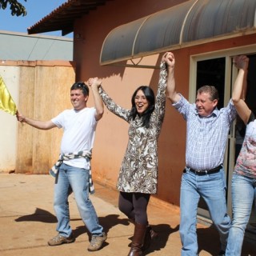
[[[96,108],[95,119],[98,121],[102,118],[104,113],[104,106],[101,96],[98,94],[98,87],[101,86],[102,81],[98,78],[90,78],[88,80],[88,85],[90,86],[92,93],[94,95],[94,104]]]

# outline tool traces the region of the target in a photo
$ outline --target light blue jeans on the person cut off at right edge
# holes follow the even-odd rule
[[[251,208],[256,198],[256,179],[233,174],[232,211],[233,220],[226,247],[227,256],[240,256],[242,242],[249,222]]]

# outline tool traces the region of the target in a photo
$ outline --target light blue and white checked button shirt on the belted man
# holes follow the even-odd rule
[[[186,120],[186,166],[210,170],[221,165],[230,126],[237,114],[232,100],[221,110],[215,108],[210,116],[201,117],[196,105],[181,97],[173,106]]]

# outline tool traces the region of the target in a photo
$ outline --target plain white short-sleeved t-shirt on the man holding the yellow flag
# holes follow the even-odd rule
[[[52,118],[58,128],[63,128],[61,154],[74,153],[82,150],[91,150],[94,145],[97,121],[95,108],[82,110],[64,110],[57,117]],[[86,158],[76,158],[64,161],[69,166],[88,169]]]

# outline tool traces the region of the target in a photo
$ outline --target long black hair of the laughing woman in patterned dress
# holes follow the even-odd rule
[[[134,94],[131,98],[131,110],[130,110],[130,118],[134,120],[138,114],[137,108],[135,106],[135,97],[138,93],[138,90],[142,90],[143,94],[146,97],[146,100],[149,102],[149,107],[142,114],[142,126],[146,126],[146,128],[150,127],[150,116],[154,111],[154,91],[149,86],[139,86],[137,90],[134,91]]]

